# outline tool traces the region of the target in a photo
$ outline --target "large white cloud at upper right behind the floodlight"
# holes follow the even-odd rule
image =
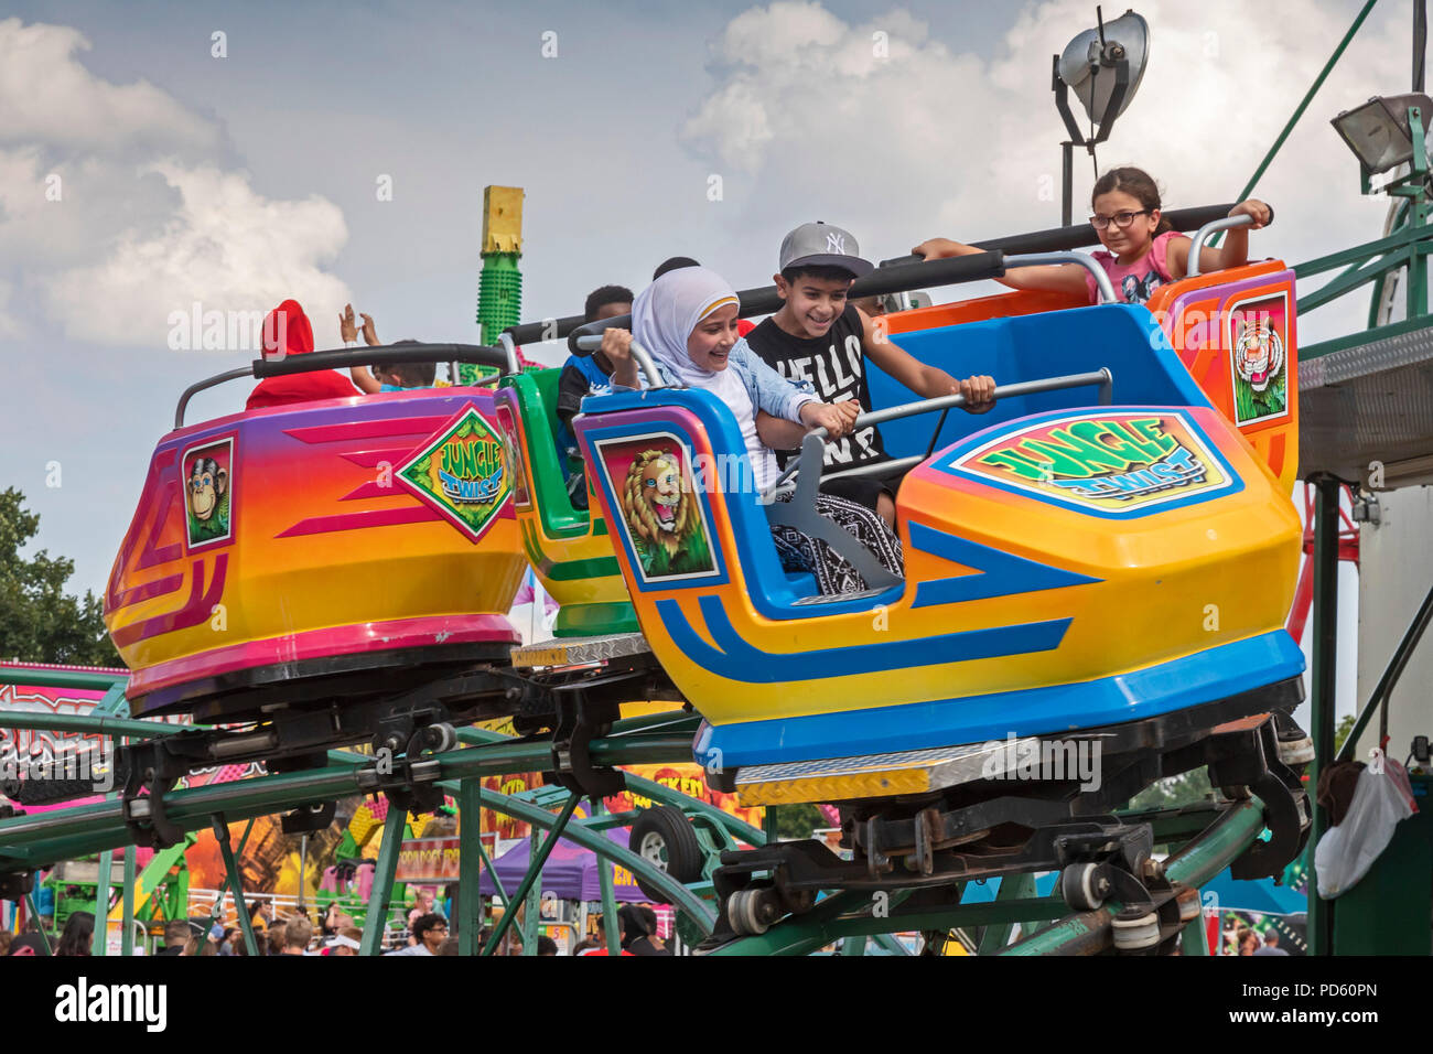
[[[1151,24],[1149,67],[1099,162],[1145,168],[1171,208],[1238,194],[1353,17],[1331,0],[1270,0],[1257,26],[1241,0],[1138,10]],[[758,229],[823,218],[871,255],[896,255],[937,234],[1055,227],[1065,133],[1050,56],[1089,24],[1086,0],[1027,4],[996,53],[979,56],[898,10],[848,23],[818,3],[754,7],[714,47],[715,85],[682,133],[714,171],[748,174],[742,224]],[[1360,198],[1357,163],[1328,119],[1407,90],[1406,67],[1406,13],[1376,11],[1255,189],[1277,221],[1254,252],[1297,262],[1379,237],[1386,202]],[[1092,182],[1076,151],[1076,218]],[[1363,310],[1350,301],[1340,318]]]

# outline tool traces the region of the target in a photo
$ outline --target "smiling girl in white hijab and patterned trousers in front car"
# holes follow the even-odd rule
[[[642,387],[632,360],[633,336],[656,363],[666,384],[706,389],[737,417],[758,492],[777,479],[772,447],[801,446],[811,429],[831,439],[851,430],[860,404],[823,403],[772,370],[737,334],[739,303],[731,285],[705,267],[668,271],[632,304],[632,330],[609,328],[602,351],[613,364],[612,387]],[[831,495],[817,496],[817,512],[856,536],[891,572],[904,571],[900,541],[873,511]],[[815,575],[823,594],[866,588],[860,574],[821,539],[790,526],[772,526],[787,571]]]

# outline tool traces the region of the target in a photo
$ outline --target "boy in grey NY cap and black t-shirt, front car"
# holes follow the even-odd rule
[[[747,334],[747,343],[782,377],[810,380],[821,402],[856,399],[863,413],[871,409],[866,357],[924,399],[959,391],[967,400],[963,409],[970,413],[995,406],[990,377],[957,381],[944,370],[917,361],[886,337],[884,327],[877,328],[870,315],[847,303],[851,283],[873,270],[848,231],[820,221],[802,224],[781,242],[780,274],[774,275],[784,301],[781,310]],[[890,459],[876,426],[825,445],[828,472],[884,460]],[[898,476],[877,475],[831,480],[821,489],[876,509],[894,526],[898,486]]]

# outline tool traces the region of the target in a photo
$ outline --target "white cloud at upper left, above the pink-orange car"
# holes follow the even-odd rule
[[[0,22],[0,336],[59,327],[162,347],[169,314],[311,314],[348,298],[324,270],[347,228],[330,201],[277,201],[226,171],[221,128],[146,82],[113,85],[66,26]],[[24,304],[21,311],[14,307]]]

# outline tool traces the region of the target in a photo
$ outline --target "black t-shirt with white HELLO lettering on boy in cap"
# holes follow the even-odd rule
[[[847,304],[824,337],[792,337],[767,318],[747,334],[751,350],[787,380],[810,380],[823,403],[860,400],[861,412],[870,413],[871,393],[866,381],[866,360],[861,353],[864,328],[854,304]],[[778,453],[782,466],[788,456]],[[854,436],[843,436],[825,445],[828,470],[854,469],[857,465],[884,462],[886,447],[881,433],[870,424]]]

